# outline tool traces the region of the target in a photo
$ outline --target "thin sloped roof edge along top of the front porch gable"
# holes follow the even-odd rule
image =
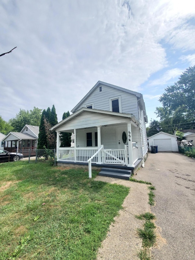
[[[63,125],[64,123],[72,120],[74,117],[80,115],[81,113],[83,113],[84,111],[89,111],[92,113],[100,113],[100,114],[107,114],[107,115],[113,115],[113,116],[120,116],[120,117],[126,117],[126,118],[132,118],[133,121],[137,124],[140,124],[140,122],[135,118],[135,116],[133,116],[133,114],[126,114],[126,113],[118,113],[118,112],[112,112],[112,111],[106,111],[106,110],[99,110],[99,109],[91,109],[91,108],[81,108],[78,111],[76,111],[75,113],[73,113],[72,115],[66,117],[64,120],[60,121],[59,123],[57,123],[55,126],[52,126],[50,128],[50,130],[55,130],[57,129],[59,126]]]

